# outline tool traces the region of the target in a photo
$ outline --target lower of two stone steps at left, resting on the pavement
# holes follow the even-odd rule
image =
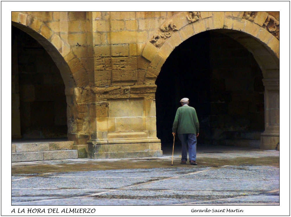
[[[33,151],[12,153],[12,162],[76,159],[78,150]]]

